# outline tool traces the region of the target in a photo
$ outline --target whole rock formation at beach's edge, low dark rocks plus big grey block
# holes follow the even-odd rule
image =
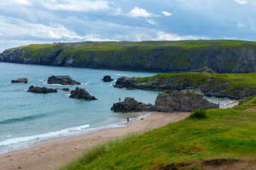
[[[209,109],[218,108],[218,105],[203,98],[201,92],[188,89],[162,92],[157,96],[155,105],[144,104],[127,97],[122,102],[114,103],[111,110],[124,113],[138,111],[189,112],[191,108]]]

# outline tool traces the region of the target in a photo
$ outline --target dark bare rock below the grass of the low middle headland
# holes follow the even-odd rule
[[[242,99],[256,94],[256,88],[230,88],[231,82],[225,79],[204,77],[199,81],[190,81],[184,77],[173,76],[166,79],[151,79],[150,81],[140,82],[138,78],[120,77],[117,79],[114,87],[126,89],[144,89],[144,90],[184,90],[195,89],[201,91],[206,96],[215,96],[220,98]]]

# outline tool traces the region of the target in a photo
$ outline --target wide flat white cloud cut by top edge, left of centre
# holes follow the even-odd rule
[[[41,0],[41,4],[50,10],[63,11],[99,11],[109,8],[107,1],[103,0]]]

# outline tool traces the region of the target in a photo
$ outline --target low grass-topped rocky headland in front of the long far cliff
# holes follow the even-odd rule
[[[178,73],[157,74],[154,77],[117,79],[115,87],[144,90],[196,89],[206,96],[241,99],[256,94],[256,73],[206,74]]]

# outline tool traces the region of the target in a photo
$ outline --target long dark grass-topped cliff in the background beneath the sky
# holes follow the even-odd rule
[[[53,43],[0,54],[0,62],[155,72],[247,73],[256,72],[255,61],[256,42],[242,40]]]

